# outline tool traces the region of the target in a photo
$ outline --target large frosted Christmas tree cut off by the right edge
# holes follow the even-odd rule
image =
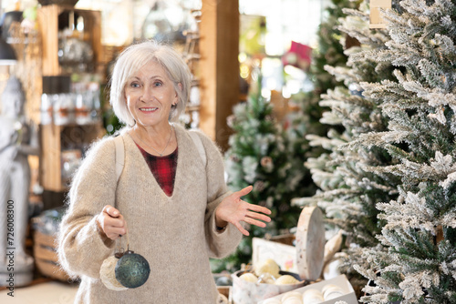
[[[399,177],[399,197],[378,201],[388,251],[364,250],[357,269],[373,284],[366,303],[456,303],[456,2],[401,1],[388,10],[388,48],[359,56],[392,62],[394,80],[362,83],[381,99],[386,130],[354,148],[387,150],[396,164],[372,167]]]

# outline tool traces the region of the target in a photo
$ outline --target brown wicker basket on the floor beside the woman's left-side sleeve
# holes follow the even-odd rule
[[[56,238],[42,232],[34,232],[33,252],[36,269],[49,278],[69,282],[67,272],[60,268],[57,258]]]

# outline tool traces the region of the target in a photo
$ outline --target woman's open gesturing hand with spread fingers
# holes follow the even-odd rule
[[[245,236],[248,236],[249,232],[243,228],[241,221],[261,228],[266,227],[264,222],[270,222],[271,218],[264,214],[271,214],[271,210],[249,204],[241,199],[244,195],[249,194],[252,189],[252,186],[244,187],[244,189],[234,192],[231,196],[223,199],[222,203],[215,209],[217,227],[224,227],[228,223],[232,223]]]

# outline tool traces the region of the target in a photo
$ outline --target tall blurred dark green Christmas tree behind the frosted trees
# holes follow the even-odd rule
[[[318,26],[317,47],[312,50],[312,62],[306,72],[306,76],[312,81],[313,90],[299,92],[291,96],[289,105],[292,110],[285,117],[285,132],[288,138],[290,159],[294,163],[293,168],[302,170],[303,179],[301,186],[304,187],[305,197],[316,193],[316,184],[313,182],[310,170],[302,167],[308,157],[317,157],[325,149],[321,146],[311,147],[306,135],[313,134],[325,136],[331,126],[320,123],[323,113],[327,107],[320,106],[320,95],[328,89],[334,89],[342,83],[329,74],[325,66],[346,66],[347,56],[344,54],[344,47],[339,43],[344,33],[337,29],[338,19],[346,16],[342,8],[356,8],[359,3],[350,0],[332,0],[332,4],[326,7],[325,20]],[[346,37],[345,40],[350,39]],[[355,41],[355,39],[351,39]],[[333,126],[334,127],[334,126]],[[342,128],[340,128],[342,129]]]

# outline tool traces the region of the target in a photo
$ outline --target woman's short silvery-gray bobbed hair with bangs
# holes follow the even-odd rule
[[[110,79],[109,103],[119,120],[129,127],[135,125],[127,101],[125,100],[125,85],[127,79],[150,61],[159,63],[170,77],[174,91],[178,96],[176,106],[171,107],[170,121],[175,121],[185,111],[190,96],[191,73],[182,56],[171,46],[161,45],[148,40],[127,47],[117,58]],[[181,84],[181,88],[179,87]]]

